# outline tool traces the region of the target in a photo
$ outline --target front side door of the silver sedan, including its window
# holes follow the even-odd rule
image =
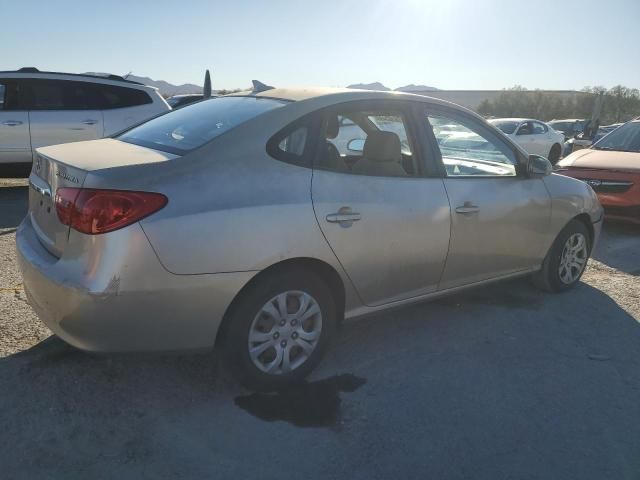
[[[454,123],[468,135],[436,142],[451,203],[451,241],[440,289],[540,266],[551,199],[539,178],[522,174],[517,149],[481,120],[445,107],[424,112],[432,123]]]

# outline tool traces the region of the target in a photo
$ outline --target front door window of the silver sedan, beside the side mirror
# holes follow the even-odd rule
[[[516,176],[515,153],[487,129],[462,117],[428,113],[427,121],[440,148],[447,177]]]

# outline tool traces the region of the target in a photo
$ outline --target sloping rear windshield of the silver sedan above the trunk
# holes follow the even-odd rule
[[[287,102],[259,97],[220,97],[149,120],[118,137],[142,147],[183,155],[224,132]]]

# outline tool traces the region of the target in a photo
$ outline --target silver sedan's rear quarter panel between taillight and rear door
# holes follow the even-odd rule
[[[340,271],[313,212],[312,170],[266,152],[277,130],[248,122],[199,151],[155,165],[151,175],[134,167],[131,180],[123,179],[144,178],[150,190],[169,198],[162,211],[141,222],[168,271],[258,271],[297,257]]]

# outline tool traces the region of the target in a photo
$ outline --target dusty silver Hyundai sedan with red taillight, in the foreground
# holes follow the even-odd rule
[[[440,100],[263,87],[39,149],[17,247],[66,342],[216,344],[270,388],[308,374],[343,318],[519,275],[575,285],[602,208],[550,171]]]

